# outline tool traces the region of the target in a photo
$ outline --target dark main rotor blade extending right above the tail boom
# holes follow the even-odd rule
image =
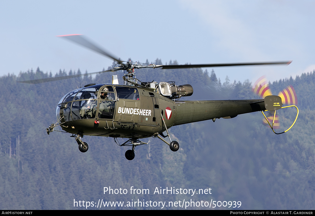
[[[229,67],[229,66],[249,66],[249,65],[289,65],[292,61],[273,61],[273,62],[243,62],[243,63],[222,63],[204,65],[156,65],[162,69],[196,68],[196,67]]]

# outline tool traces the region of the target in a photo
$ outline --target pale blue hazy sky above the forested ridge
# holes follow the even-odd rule
[[[55,37],[83,34],[122,60],[292,60],[288,66],[205,68],[223,82],[226,76],[252,83],[263,75],[270,81],[295,78],[315,69],[314,8],[313,1],[284,0],[1,1],[0,76],[37,67],[53,74],[96,72],[112,65],[111,59]]]

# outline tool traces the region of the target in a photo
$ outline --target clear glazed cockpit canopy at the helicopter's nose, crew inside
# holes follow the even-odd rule
[[[85,118],[113,119],[119,99],[139,100],[138,89],[110,84],[78,88],[60,99],[56,116],[61,122]]]

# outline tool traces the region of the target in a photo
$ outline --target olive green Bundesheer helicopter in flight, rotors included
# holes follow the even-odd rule
[[[171,151],[178,151],[179,143],[171,140],[168,131],[173,126],[204,120],[215,122],[216,119],[234,118],[240,114],[256,111],[262,113],[263,111],[274,111],[276,113],[276,110],[286,108],[282,104],[282,98],[276,95],[268,95],[264,99],[181,100],[182,97],[193,94],[193,88],[190,84],[141,82],[135,76],[135,69],[289,65],[291,61],[201,65],[142,64],[122,61],[80,34],[57,37],[66,38],[117,62],[109,70],[94,73],[124,71],[123,85],[118,83],[117,75],[113,75],[112,83],[85,85],[83,88],[77,88],[67,93],[58,102],[56,108],[57,122],[46,128],[46,132],[50,134],[54,131],[54,128],[60,126],[62,132],[72,134],[71,137],[75,138],[81,152],[86,152],[89,149],[89,145],[82,140],[84,135],[111,137],[120,146],[132,146],[131,149],[125,152],[127,160],[135,158],[136,146],[149,143],[150,140],[148,142],[141,141],[143,138],[157,137],[169,145]],[[81,75],[49,77],[20,82],[36,84],[79,76]],[[273,127],[273,123],[269,125],[271,128]],[[166,135],[164,135],[164,132],[166,132]],[[273,132],[276,133],[274,130]],[[128,140],[120,144],[117,138],[127,138]]]

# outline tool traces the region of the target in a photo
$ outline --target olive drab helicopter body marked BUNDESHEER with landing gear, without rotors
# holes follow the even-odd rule
[[[171,89],[170,84],[162,84],[159,83],[158,89],[168,94],[165,88]],[[179,88],[183,89],[183,95],[192,94],[190,85]],[[188,93],[185,88],[188,88]],[[127,159],[132,160],[135,146],[147,144],[140,141],[141,138],[158,137],[172,151],[177,151],[179,144],[171,140],[167,131],[172,126],[209,119],[215,122],[216,118],[233,118],[243,113],[266,110],[263,99],[189,101],[171,100],[169,97],[155,92],[153,88],[89,84],[69,92],[60,100],[56,109],[59,120],[47,128],[47,132],[49,134],[60,125],[64,131],[74,134],[82,152],[88,150],[87,143],[81,140],[83,135],[129,138],[121,146],[133,146],[125,154]],[[280,104],[280,97],[270,97]],[[164,131],[167,135],[163,134]],[[170,143],[163,137],[169,137]]]

